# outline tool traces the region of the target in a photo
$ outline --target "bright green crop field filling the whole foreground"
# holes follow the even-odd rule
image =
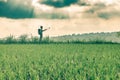
[[[120,45],[0,45],[0,80],[120,80]]]

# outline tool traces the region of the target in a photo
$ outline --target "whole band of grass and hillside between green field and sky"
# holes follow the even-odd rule
[[[80,44],[113,44],[120,43],[119,38],[120,32],[111,32],[111,33],[85,33],[85,34],[72,34],[72,35],[63,35],[56,37],[44,37],[41,43],[80,43]],[[24,34],[15,38],[13,35],[10,35],[6,38],[0,39],[0,44],[38,44],[39,37],[29,36]]]

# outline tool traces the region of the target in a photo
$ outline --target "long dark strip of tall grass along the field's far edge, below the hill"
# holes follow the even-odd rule
[[[41,42],[39,42],[39,37],[37,36],[31,36],[28,37],[28,35],[21,35],[18,38],[15,38],[14,36],[10,35],[6,38],[0,39],[0,44],[57,44],[57,43],[77,43],[77,44],[113,44],[117,42],[112,41],[106,41],[105,39],[89,39],[89,40],[54,40],[51,37],[47,36],[42,39]]]

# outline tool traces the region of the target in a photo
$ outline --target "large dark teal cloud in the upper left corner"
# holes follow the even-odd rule
[[[33,7],[30,0],[0,1],[0,17],[32,18]]]

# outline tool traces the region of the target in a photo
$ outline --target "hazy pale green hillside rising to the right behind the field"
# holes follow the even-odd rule
[[[72,34],[52,37],[56,42],[75,42],[75,43],[120,43],[119,32],[101,32]]]

